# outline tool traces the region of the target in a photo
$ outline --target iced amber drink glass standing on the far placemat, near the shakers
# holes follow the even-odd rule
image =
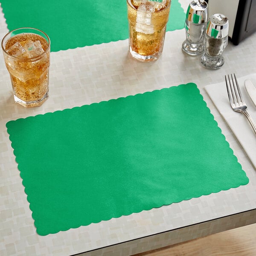
[[[129,47],[140,61],[155,61],[163,51],[171,0],[127,0]]]

